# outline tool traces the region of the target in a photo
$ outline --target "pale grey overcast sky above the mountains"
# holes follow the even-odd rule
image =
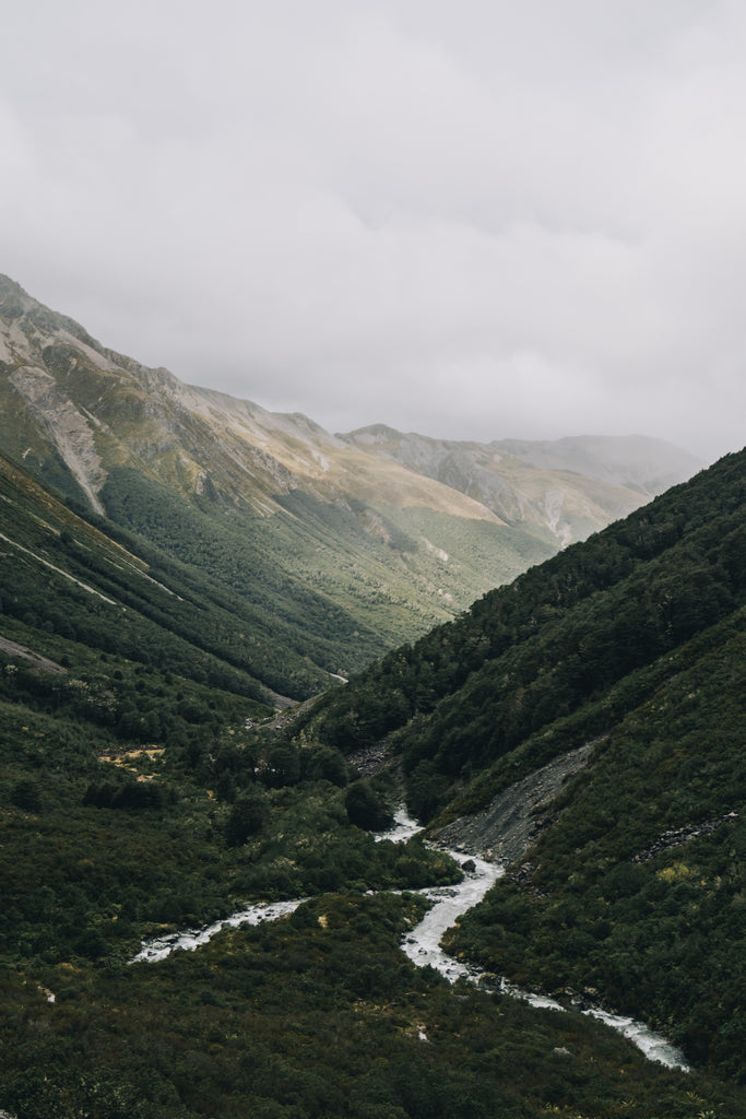
[[[744,445],[742,0],[25,0],[0,272],[329,431]]]

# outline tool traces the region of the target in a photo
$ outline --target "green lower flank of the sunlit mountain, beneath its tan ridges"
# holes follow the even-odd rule
[[[227,600],[246,603],[259,632],[274,633],[308,658],[308,681],[290,674],[272,681],[295,698],[323,690],[329,674],[348,676],[450,615],[464,586],[478,584],[480,568],[518,573],[537,552],[550,551],[488,521],[427,509],[406,517],[395,508],[374,513],[361,502],[331,504],[302,490],[277,497],[280,511],[267,523],[216,509],[209,498],[187,501],[131,468],[111,471],[102,498],[115,524],[209,573]],[[460,558],[427,548],[425,533],[457,549]]]

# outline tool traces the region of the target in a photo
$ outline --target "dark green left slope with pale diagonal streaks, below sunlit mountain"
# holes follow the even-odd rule
[[[292,618],[270,623],[266,611],[197,565],[75,515],[2,455],[0,497],[2,636],[73,661],[77,643],[265,705],[272,688],[318,690],[329,679],[309,660]],[[344,624],[341,611],[336,621]]]

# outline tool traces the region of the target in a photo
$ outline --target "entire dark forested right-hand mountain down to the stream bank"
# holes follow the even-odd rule
[[[745,623],[742,451],[389,653],[298,731],[353,754],[386,737],[433,835],[506,853],[450,950],[657,1022],[742,1084]]]

